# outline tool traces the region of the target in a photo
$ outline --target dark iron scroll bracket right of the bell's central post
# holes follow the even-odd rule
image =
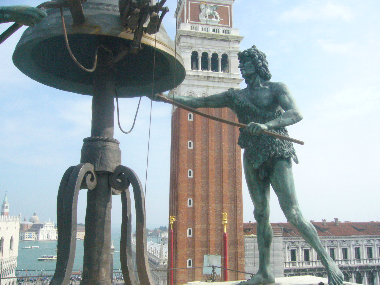
[[[144,284],[152,285],[150,275],[148,252],[146,247],[146,214],[144,211],[144,191],[141,182],[132,169],[119,165],[109,176],[109,185],[112,192],[121,196],[122,225],[120,237],[120,263],[126,285]],[[136,207],[136,265],[139,277],[137,281],[132,264],[132,225],[131,225],[131,199],[129,186],[133,187],[133,196]]]

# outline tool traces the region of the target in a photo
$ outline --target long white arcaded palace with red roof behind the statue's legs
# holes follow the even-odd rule
[[[313,222],[326,252],[338,264],[347,282],[380,285],[380,222]],[[271,258],[274,271],[287,276],[314,275],[327,277],[315,250],[304,241],[290,223],[272,223],[274,237]],[[255,241],[256,223],[244,223],[245,271],[258,269],[258,251]],[[276,244],[282,244],[281,247]],[[281,273],[280,273],[281,274]],[[281,277],[277,275],[276,277]]]

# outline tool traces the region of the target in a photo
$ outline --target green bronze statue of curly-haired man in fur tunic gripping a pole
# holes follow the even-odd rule
[[[192,108],[230,108],[239,119],[247,124],[240,129],[238,144],[244,149],[243,166],[245,179],[252,198],[257,222],[257,243],[260,266],[252,279],[240,284],[271,284],[274,275],[270,266],[272,227],[269,223],[270,185],[288,222],[295,226],[320,256],[326,268],[330,285],[341,285],[344,280],[336,263],[326,253],[314,226],[306,220],[299,209],[292,162],[298,163],[293,144],[288,141],[261,134],[270,130],[288,136],[286,126],[302,119],[296,100],[282,82],[271,82],[266,55],[256,46],[239,52],[239,68],[247,88],[229,89],[209,97],[174,96],[174,100]],[[168,97],[173,99],[173,97]],[[159,101],[157,97],[153,98]]]

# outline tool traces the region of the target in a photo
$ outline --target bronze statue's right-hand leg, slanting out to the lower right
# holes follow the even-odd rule
[[[342,285],[344,280],[342,272],[323,248],[314,226],[303,217],[299,209],[290,158],[276,158],[273,161],[269,179],[285,217],[321,257],[321,261],[326,268],[329,284]]]

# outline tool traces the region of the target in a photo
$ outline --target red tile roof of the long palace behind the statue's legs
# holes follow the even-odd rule
[[[317,230],[318,236],[380,236],[380,222],[326,222],[326,226],[322,222],[311,222]],[[274,233],[280,233],[282,228],[282,236],[292,237],[301,236],[299,231],[290,223],[271,223]],[[244,235],[256,234],[257,223],[244,223]]]

